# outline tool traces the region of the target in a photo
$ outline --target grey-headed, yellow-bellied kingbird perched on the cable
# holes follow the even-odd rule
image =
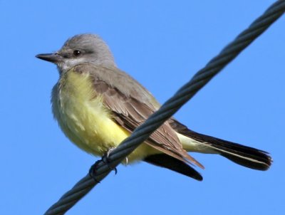
[[[69,38],[56,53],[36,56],[57,65],[53,115],[64,134],[82,150],[103,156],[117,147],[160,104],[138,81],[120,70],[105,42],[93,34]],[[187,152],[220,154],[244,167],[266,170],[267,152],[202,135],[175,120],[167,120],[128,156],[128,163],[145,161],[197,180],[189,164],[202,167]]]

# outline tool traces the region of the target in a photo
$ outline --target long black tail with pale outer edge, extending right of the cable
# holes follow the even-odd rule
[[[202,135],[192,130],[189,130],[185,125],[182,125],[176,120],[171,120],[170,125],[181,135],[185,135],[205,145],[209,145],[217,154],[221,154],[227,159],[232,160],[237,164],[252,169],[266,170],[269,169],[272,159],[268,152],[257,150],[252,147],[247,147],[227,140]]]

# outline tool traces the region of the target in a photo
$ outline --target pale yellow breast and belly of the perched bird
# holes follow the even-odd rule
[[[53,114],[65,135],[82,150],[102,156],[117,147],[130,133],[117,125],[103,98],[93,90],[88,73],[68,71],[52,93]],[[140,160],[156,150],[142,144],[128,157],[128,162]]]

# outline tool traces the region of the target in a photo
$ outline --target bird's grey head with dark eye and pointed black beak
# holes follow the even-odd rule
[[[81,63],[115,66],[115,61],[107,44],[97,35],[78,34],[69,38],[56,53],[36,56],[58,66],[60,72],[67,71]]]

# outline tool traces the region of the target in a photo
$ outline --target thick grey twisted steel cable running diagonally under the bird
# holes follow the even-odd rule
[[[279,17],[284,14],[284,11],[285,0],[279,0],[272,4],[249,28],[242,31],[232,43],[229,43],[218,56],[212,58],[202,70],[199,70],[194,77],[183,85],[172,98],[167,100],[159,110],[153,113],[142,125],[137,127],[130,137],[126,138],[115,150],[110,152],[108,164],[99,161],[95,166],[95,180],[87,174],[86,177],[81,179],[70,191],[66,192],[56,204],[53,204],[45,214],[65,214],[68,209],[71,209],[73,205],[88,194],[98,182],[110,173],[110,167],[116,167],[128,154],[133,152],[136,147],[147,140],[152,132],[160,127],[165,120],[175,114],[182,105],[187,103],[214,75],[217,75],[217,73],[237,57],[244,48],[247,48],[254,39],[269,28],[276,19],[279,19]]]

